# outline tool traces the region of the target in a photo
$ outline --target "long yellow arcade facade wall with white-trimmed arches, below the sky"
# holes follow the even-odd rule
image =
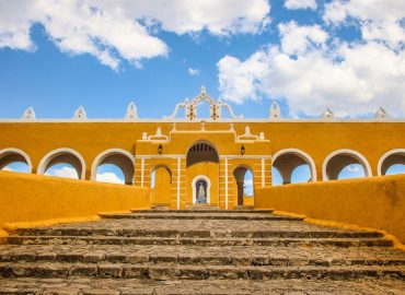
[[[322,165],[325,157],[339,149],[355,150],[369,161],[373,176],[381,156],[393,149],[405,149],[404,122],[234,122],[236,134],[243,134],[250,126],[252,134],[264,132],[267,142],[246,142],[245,156],[274,155],[279,150],[299,149],[308,153],[315,163],[317,180],[322,180]],[[171,141],[162,143],[163,153],[158,155],[159,142],[142,142],[142,132],[149,135],[161,127],[162,134],[170,135]],[[181,181],[182,205],[190,199],[190,182],[185,158],[182,158],[181,177],[177,173],[177,155],[185,155],[192,144],[198,140],[212,143],[220,156],[238,155],[242,143],[235,143],[235,134],[229,122],[206,122],[201,131],[200,122],[177,122],[175,130],[172,122],[1,122],[0,150],[16,148],[26,152],[33,163],[33,173],[49,151],[59,148],[70,148],[78,151],[86,164],[86,179],[90,177],[94,158],[108,149],[123,149],[135,155],[135,184],[149,187],[151,169],[159,164],[166,164],[172,170],[171,206],[176,208],[176,184]],[[217,133],[209,131],[217,130]],[[141,177],[139,155],[148,155],[144,162],[144,175]],[[164,158],[165,155],[175,155]],[[149,157],[150,156],[150,157]],[[223,164],[223,160],[220,160]],[[262,186],[261,160],[230,160],[229,180],[232,170],[239,164],[251,165],[255,176],[255,189]],[[266,160],[265,186],[270,185],[270,160]],[[193,172],[192,172],[193,173]],[[223,166],[221,166],[223,174]],[[187,179],[184,175],[187,174]],[[212,180],[213,178],[211,178]],[[193,179],[192,179],[193,180]],[[217,181],[217,180],[216,180]],[[234,204],[235,189],[229,182],[229,208]],[[219,188],[220,206],[224,208],[224,187]],[[211,196],[215,196],[212,193]]]

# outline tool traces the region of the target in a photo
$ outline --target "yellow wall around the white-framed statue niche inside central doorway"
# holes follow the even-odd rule
[[[212,162],[200,162],[187,167],[187,194],[185,205],[193,204],[193,180],[196,176],[207,176],[211,181],[210,204],[219,203],[219,165]]]

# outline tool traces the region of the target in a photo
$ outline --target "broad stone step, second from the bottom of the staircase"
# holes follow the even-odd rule
[[[405,266],[405,252],[386,248],[1,246],[0,262],[175,263],[215,266]]]

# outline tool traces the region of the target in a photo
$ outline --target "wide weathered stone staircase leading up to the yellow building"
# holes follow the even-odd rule
[[[102,217],[8,237],[0,294],[405,294],[379,233],[245,208]]]

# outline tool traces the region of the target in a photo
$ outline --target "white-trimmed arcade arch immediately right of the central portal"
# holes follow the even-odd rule
[[[310,181],[317,180],[315,162],[308,153],[299,149],[284,149],[276,152],[271,157],[271,166],[280,173],[285,185],[291,182],[292,172],[301,165],[309,166]]]

